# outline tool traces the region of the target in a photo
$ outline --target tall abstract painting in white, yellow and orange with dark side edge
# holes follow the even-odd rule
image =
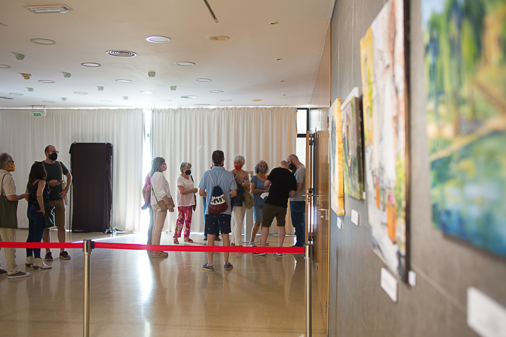
[[[360,40],[367,212],[373,251],[404,280],[407,94],[404,4],[391,0]]]

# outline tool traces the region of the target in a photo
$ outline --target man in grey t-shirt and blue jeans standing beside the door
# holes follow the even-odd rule
[[[293,247],[304,247],[306,240],[306,198],[304,197],[306,190],[306,166],[294,154],[289,155],[286,161],[288,162],[288,168],[293,172],[297,180],[295,196],[290,198],[291,224],[295,228],[295,235],[297,236],[297,242]]]

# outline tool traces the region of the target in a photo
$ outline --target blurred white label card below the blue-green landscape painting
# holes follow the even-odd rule
[[[468,288],[468,325],[482,337],[506,336],[506,309],[477,288]]]

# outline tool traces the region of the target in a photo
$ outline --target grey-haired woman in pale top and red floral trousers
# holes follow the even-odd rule
[[[178,238],[181,237],[181,230],[183,229],[183,223],[185,226],[184,240],[185,242],[193,242],[190,238],[190,225],[191,216],[193,212],[193,205],[195,205],[195,193],[198,191],[193,183],[191,177],[191,164],[188,162],[182,162],[179,165],[179,171],[181,175],[176,179],[176,200],[178,203],[178,220],[176,221],[176,230],[174,232],[174,243],[179,244]]]

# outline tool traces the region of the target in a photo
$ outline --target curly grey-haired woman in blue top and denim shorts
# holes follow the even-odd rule
[[[265,160],[259,160],[255,165],[255,173],[251,178],[251,194],[253,195],[253,218],[255,224],[251,228],[251,239],[249,240],[249,247],[257,247],[255,245],[255,237],[258,230],[262,225],[262,210],[264,209],[265,199],[261,197],[262,193],[268,192],[269,188],[265,187],[265,180],[267,179],[267,172],[269,172],[269,165]]]

